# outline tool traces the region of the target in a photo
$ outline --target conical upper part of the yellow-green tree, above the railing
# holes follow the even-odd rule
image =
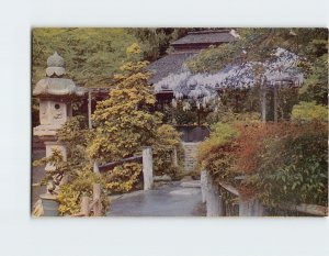
[[[139,60],[140,47],[135,43],[126,53],[129,62],[115,75],[110,98],[99,102],[92,115],[94,138],[88,153],[93,159],[117,160],[139,153],[141,146],[154,144],[161,122],[159,114],[151,113],[156,98],[148,85],[148,63]]]

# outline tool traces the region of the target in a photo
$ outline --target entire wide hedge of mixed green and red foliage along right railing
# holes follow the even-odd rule
[[[200,147],[198,164],[266,205],[327,205],[327,123],[315,120],[218,123]]]

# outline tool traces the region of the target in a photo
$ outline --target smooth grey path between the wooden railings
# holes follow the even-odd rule
[[[169,182],[157,189],[111,199],[107,216],[204,216],[201,189]]]

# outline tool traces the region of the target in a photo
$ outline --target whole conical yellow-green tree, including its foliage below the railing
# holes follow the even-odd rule
[[[161,153],[155,159],[156,171],[169,171],[168,152],[180,144],[179,134],[171,126],[160,125],[162,116],[154,112],[156,98],[148,85],[150,74],[145,69],[148,63],[140,57],[137,44],[127,48],[129,62],[121,67],[122,74],[115,75],[117,82],[110,98],[98,102],[88,154],[99,162],[113,162],[140,154],[141,146],[154,146],[156,153]],[[138,185],[140,171],[136,163],[116,166],[107,175],[106,188],[111,192],[129,191]]]

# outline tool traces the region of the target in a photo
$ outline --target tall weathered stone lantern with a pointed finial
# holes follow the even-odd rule
[[[53,149],[58,149],[64,160],[67,159],[66,145],[57,141],[56,134],[63,124],[72,116],[72,99],[86,93],[83,88],[76,86],[71,79],[65,78],[65,75],[64,58],[55,52],[47,59],[46,77],[41,79],[33,90],[33,96],[39,99],[41,122],[33,129],[33,134],[45,143],[46,157],[52,155]],[[52,165],[47,165],[45,168],[46,171],[54,169],[55,167]],[[54,178],[56,179],[56,177]],[[54,191],[57,189],[57,185],[53,182],[47,187],[46,198],[56,198]]]

